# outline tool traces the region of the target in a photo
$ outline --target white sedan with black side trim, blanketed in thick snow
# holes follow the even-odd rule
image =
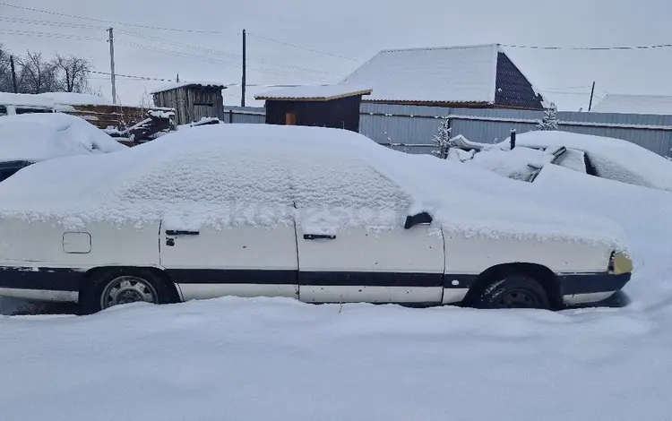
[[[556,309],[623,288],[620,226],[532,187],[344,130],[194,128],[0,184],[0,295]]]

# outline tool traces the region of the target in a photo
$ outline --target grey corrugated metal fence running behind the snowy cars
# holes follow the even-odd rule
[[[264,123],[263,107],[227,107],[225,120],[233,123]],[[410,153],[429,153],[432,138],[442,119],[451,121],[452,134],[470,141],[504,141],[535,129],[540,111],[508,109],[444,108],[362,104],[359,133],[375,142]],[[558,112],[560,130],[615,137],[636,143],[659,155],[672,148],[672,116]]]

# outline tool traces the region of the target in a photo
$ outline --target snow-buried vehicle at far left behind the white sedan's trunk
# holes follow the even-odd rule
[[[0,181],[35,162],[124,149],[124,145],[77,116],[0,116]]]

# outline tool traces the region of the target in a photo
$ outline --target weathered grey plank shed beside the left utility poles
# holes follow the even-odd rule
[[[187,125],[202,117],[224,118],[224,97],[227,87],[212,82],[178,82],[151,92],[156,107],[175,109],[176,125]]]

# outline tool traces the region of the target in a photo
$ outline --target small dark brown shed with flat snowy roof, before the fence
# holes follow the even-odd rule
[[[359,105],[370,89],[349,85],[297,86],[254,97],[266,101],[267,125],[314,125],[359,131]]]

